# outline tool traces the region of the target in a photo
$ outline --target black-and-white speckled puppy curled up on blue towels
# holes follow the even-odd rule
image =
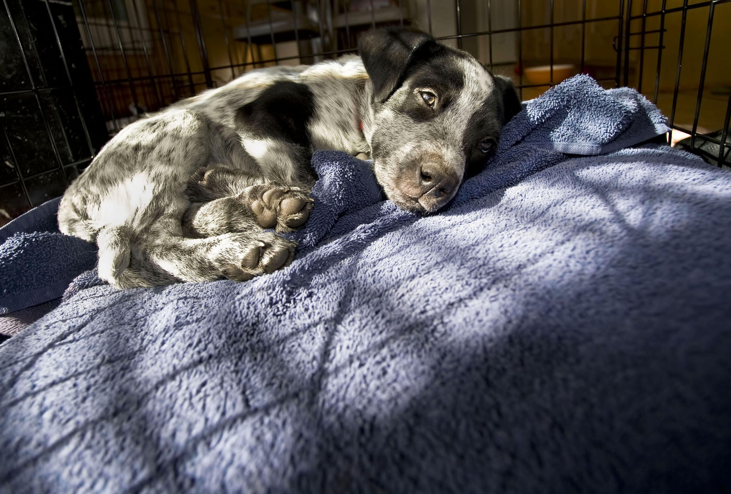
[[[61,232],[96,242],[119,288],[268,273],[295,243],[263,229],[307,220],[317,149],[366,153],[393,202],[439,210],[520,111],[515,88],[422,32],[370,31],[359,48],[247,72],[127,126],[64,194]]]

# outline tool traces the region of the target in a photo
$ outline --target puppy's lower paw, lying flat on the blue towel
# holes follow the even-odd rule
[[[288,265],[296,245],[273,233],[232,233],[219,246],[215,263],[226,278],[246,281]]]

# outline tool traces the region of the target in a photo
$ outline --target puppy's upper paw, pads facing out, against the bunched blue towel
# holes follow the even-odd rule
[[[277,232],[291,232],[310,217],[313,200],[298,187],[262,184],[246,189],[257,223]]]

